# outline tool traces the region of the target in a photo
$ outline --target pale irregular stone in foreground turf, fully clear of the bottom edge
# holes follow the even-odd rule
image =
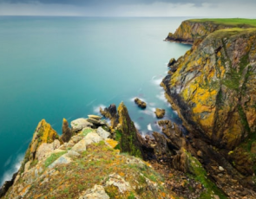
[[[108,181],[106,182],[106,186],[114,185],[119,189],[120,193],[124,193],[125,191],[132,190],[131,185],[126,182],[121,176],[118,174],[110,174]]]

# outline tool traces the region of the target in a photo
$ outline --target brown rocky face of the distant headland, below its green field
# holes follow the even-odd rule
[[[197,39],[205,38],[210,33],[218,29],[230,29],[234,27],[252,28],[250,25],[241,23],[240,25],[220,24],[213,21],[200,22],[197,20],[187,20],[181,22],[181,26],[176,29],[175,33],[169,33],[166,40],[172,42],[183,42],[193,44]]]

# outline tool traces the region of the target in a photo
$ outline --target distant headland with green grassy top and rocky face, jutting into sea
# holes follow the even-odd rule
[[[166,41],[193,44],[198,39],[203,39],[210,33],[219,29],[230,28],[255,28],[254,20],[250,19],[191,19],[181,22],[173,33],[167,35]]]

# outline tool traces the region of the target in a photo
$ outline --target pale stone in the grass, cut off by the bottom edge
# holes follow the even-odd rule
[[[92,189],[87,189],[79,199],[109,199],[109,196],[101,185],[95,184]]]

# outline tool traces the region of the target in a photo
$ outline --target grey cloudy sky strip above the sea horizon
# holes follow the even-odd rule
[[[255,0],[0,0],[0,16],[256,18]]]

